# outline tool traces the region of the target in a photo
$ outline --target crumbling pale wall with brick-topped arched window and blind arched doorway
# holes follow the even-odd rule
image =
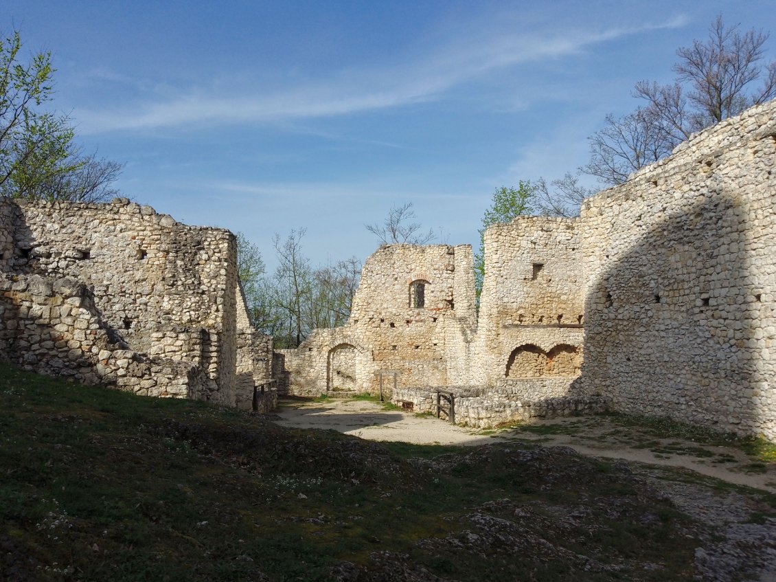
[[[469,373],[466,348],[476,323],[468,245],[380,247],[362,269],[348,324],[316,330],[283,350],[288,391],[377,393],[376,372],[397,372],[400,386],[445,386]],[[393,380],[384,383],[387,395]]]

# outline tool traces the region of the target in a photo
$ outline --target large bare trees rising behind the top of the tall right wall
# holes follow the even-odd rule
[[[633,95],[646,106],[620,118],[607,116],[591,138],[591,161],[580,168],[605,185],[625,182],[633,171],[666,157],[692,133],[776,97],[776,61],[762,64],[767,33],[718,16],[708,40],[677,50],[677,80],[640,81]],[[763,79],[759,88],[753,85]]]

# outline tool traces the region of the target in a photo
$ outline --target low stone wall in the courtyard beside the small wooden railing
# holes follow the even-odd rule
[[[514,381],[512,381],[514,382]],[[456,396],[456,424],[475,428],[493,428],[499,424],[582,414],[601,414],[609,410],[609,401],[597,396],[540,397],[519,400],[514,395],[498,393],[484,386],[449,386],[445,390]],[[412,403],[419,414],[436,414],[436,390],[403,388],[393,395],[393,403]],[[442,413],[442,417],[446,417]]]

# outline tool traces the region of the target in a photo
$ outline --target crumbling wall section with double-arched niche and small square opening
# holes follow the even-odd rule
[[[570,386],[579,375],[581,238],[577,221],[562,218],[518,217],[487,229],[475,382],[565,377]]]

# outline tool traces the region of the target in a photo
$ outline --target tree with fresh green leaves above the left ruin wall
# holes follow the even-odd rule
[[[53,92],[51,54],[19,59],[18,32],[0,36],[0,195],[12,198],[94,202],[122,166],[83,155],[67,116],[42,109]]]

